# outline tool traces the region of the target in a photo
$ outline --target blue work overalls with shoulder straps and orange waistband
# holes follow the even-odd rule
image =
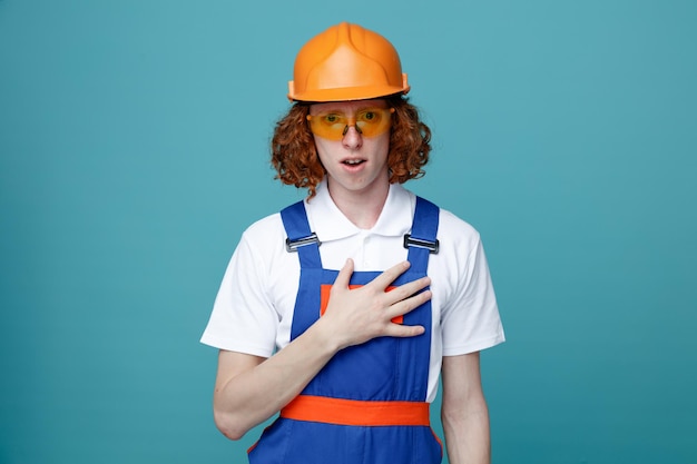
[[[301,278],[291,339],[324,312],[338,275],[324,269],[320,241],[310,229],[302,201],[281,213],[288,251],[297,251]],[[439,208],[416,197],[411,235],[404,237],[411,267],[393,286],[426,275],[438,251]],[[355,272],[351,286],[380,272]],[[394,320],[394,319],[393,319]],[[281,411],[249,450],[251,464],[436,464],[442,446],[429,423],[426,391],[431,353],[431,302],[400,317],[421,325],[415,337],[380,337],[338,352],[305,389]]]

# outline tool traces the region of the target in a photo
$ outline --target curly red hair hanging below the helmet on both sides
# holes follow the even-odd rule
[[[401,95],[385,98],[394,108],[390,129],[390,184],[404,184],[423,177],[423,166],[429,162],[431,129],[419,119],[419,110]],[[310,103],[295,102],[274,129],[271,162],[276,179],[297,188],[307,188],[310,198],[316,194],[317,184],[325,169],[317,156],[313,135],[307,125]]]

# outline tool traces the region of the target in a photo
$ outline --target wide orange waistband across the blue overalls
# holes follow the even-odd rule
[[[430,425],[429,403],[374,402],[300,395],[281,409],[281,417],[337,425]]]

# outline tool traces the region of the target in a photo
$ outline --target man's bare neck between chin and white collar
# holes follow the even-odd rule
[[[333,189],[330,181],[328,189],[332,200],[351,223],[361,229],[371,229],[385,206],[390,184],[381,182],[367,191],[345,191]]]

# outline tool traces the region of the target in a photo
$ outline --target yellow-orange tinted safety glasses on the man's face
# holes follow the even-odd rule
[[[353,126],[364,137],[375,137],[390,130],[394,108],[365,108],[353,115],[343,111],[325,111],[307,115],[310,130],[315,136],[341,140]]]

